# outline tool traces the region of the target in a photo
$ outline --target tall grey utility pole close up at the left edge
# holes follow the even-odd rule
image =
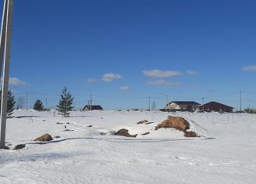
[[[3,78],[2,78],[2,103],[1,103],[1,141],[0,149],[5,149],[5,129],[6,129],[6,111],[7,111],[7,96],[9,83],[9,59],[10,59],[10,44],[11,31],[13,21],[13,0],[5,0],[2,27],[1,27],[1,41],[0,41],[0,75],[3,64]]]

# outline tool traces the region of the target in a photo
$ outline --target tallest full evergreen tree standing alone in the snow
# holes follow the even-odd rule
[[[64,117],[68,117],[68,111],[71,111],[73,109],[73,99],[74,98],[71,96],[71,93],[68,92],[68,89],[66,87],[64,87],[62,89],[62,94],[60,95],[59,104],[57,105],[57,110],[60,111],[60,113],[63,114]]]

